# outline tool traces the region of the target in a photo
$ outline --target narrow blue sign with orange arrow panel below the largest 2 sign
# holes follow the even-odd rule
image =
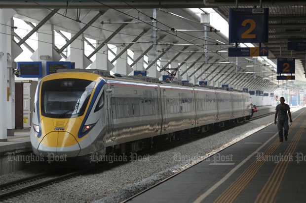
[[[268,57],[267,47],[229,48],[229,57]]]

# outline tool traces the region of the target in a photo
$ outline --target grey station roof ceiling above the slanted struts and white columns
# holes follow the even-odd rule
[[[33,23],[52,24],[58,32],[84,34],[101,46],[113,44],[155,56],[156,60],[175,61],[177,67],[159,67],[159,71],[181,76],[188,74],[188,77],[194,75],[198,81],[219,81],[220,84],[272,91],[281,87],[284,81],[276,80],[276,68],[269,61],[276,64],[277,58],[295,58],[296,80],[285,83],[288,88],[306,92],[306,50],[288,50],[288,41],[306,42],[306,1],[262,0],[261,3],[252,0],[237,1],[237,4],[234,0],[1,0],[0,8],[14,9],[15,17],[29,23],[33,29],[39,30]],[[237,7],[269,8],[268,43],[253,43],[255,47],[268,48],[267,60],[228,57],[228,48],[235,44],[229,43],[228,37],[218,29],[200,23],[198,13],[189,9],[198,8],[198,12],[204,13],[203,8],[213,8],[229,21],[229,8]],[[156,8],[154,17],[153,8]],[[154,20],[156,49],[152,43]],[[67,44],[57,48],[59,54],[63,54],[61,52],[73,38],[74,35],[67,39]],[[21,40],[27,42],[25,37]],[[98,51],[97,47],[95,51]],[[87,58],[90,59],[94,52]],[[148,61],[148,68],[154,62]],[[188,65],[188,71],[180,70],[184,63]]]

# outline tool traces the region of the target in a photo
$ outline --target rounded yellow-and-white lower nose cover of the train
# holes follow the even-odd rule
[[[77,156],[80,151],[76,138],[68,132],[48,133],[38,146],[39,153],[49,155],[56,151],[56,155]]]

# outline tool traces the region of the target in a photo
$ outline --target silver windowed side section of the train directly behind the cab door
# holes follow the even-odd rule
[[[111,81],[109,85],[113,123],[106,146],[160,135],[160,93],[156,84],[148,87],[142,83]]]

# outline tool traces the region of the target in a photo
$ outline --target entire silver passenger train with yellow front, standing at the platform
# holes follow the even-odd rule
[[[82,70],[50,74],[35,94],[35,154],[77,157],[138,151],[159,139],[250,119],[250,95],[236,90],[105,77]]]

